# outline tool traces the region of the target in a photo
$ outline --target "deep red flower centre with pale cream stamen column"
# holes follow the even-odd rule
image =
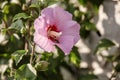
[[[49,26],[47,29],[47,36],[50,40],[55,43],[59,43],[59,37],[62,35],[62,32],[58,31],[56,26]]]

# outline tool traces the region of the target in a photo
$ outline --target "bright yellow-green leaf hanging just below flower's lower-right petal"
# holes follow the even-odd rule
[[[72,62],[75,66],[79,67],[81,58],[77,50],[78,49],[74,47],[69,57],[70,57],[70,62]]]

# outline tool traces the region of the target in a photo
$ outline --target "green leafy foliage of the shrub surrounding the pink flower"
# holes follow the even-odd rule
[[[35,51],[33,42],[33,22],[39,16],[41,10],[49,5],[60,3],[67,11],[73,14],[73,19],[80,25],[80,36],[87,39],[91,32],[100,36],[93,17],[97,14],[103,0],[77,0],[78,6],[74,6],[69,0],[12,0],[0,1],[0,34],[5,36],[6,43],[0,42],[0,79],[3,80],[63,80],[65,74],[61,73],[61,67],[68,70],[75,80],[96,80],[97,75],[91,69],[83,70],[80,63],[81,56],[77,47],[73,47],[71,53],[65,56],[57,48],[57,53]],[[82,12],[79,6],[83,5],[88,10]],[[83,18],[84,17],[84,18]],[[3,25],[4,24],[4,25]],[[97,44],[94,54],[101,50],[108,50],[115,44],[109,39],[101,39]],[[91,53],[92,54],[92,53]],[[116,62],[120,55],[104,56],[108,62]],[[12,60],[12,62],[10,62]],[[120,63],[114,66],[116,72],[120,72]]]

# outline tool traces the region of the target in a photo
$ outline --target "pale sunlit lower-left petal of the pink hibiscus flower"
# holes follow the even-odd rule
[[[47,37],[41,36],[39,33],[34,33],[34,42],[47,52],[54,51],[54,43],[51,42]]]

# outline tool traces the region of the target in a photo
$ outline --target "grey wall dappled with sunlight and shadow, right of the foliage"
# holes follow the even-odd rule
[[[107,63],[106,60],[99,54],[93,55],[97,43],[102,38],[108,38],[116,43],[116,46],[109,51],[103,51],[104,56],[120,53],[120,1],[105,0],[100,6],[98,16],[94,18],[96,27],[102,34],[99,37],[95,32],[92,32],[88,41],[85,42],[90,48],[90,54],[81,53],[81,63],[86,63],[88,67],[93,68],[93,73],[98,75],[99,80],[108,80],[112,74],[112,64]],[[119,52],[118,52],[119,51]],[[81,64],[82,66],[82,64]]]

